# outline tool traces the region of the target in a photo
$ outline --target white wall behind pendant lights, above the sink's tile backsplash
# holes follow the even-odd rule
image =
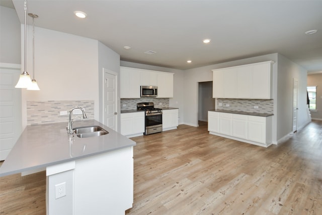
[[[22,89],[23,128],[28,100],[94,100],[98,120],[98,41],[44,28],[36,27],[35,32],[35,77],[40,90]],[[32,26],[27,26],[27,38],[27,71],[32,75]],[[21,53],[24,60],[23,47]]]

